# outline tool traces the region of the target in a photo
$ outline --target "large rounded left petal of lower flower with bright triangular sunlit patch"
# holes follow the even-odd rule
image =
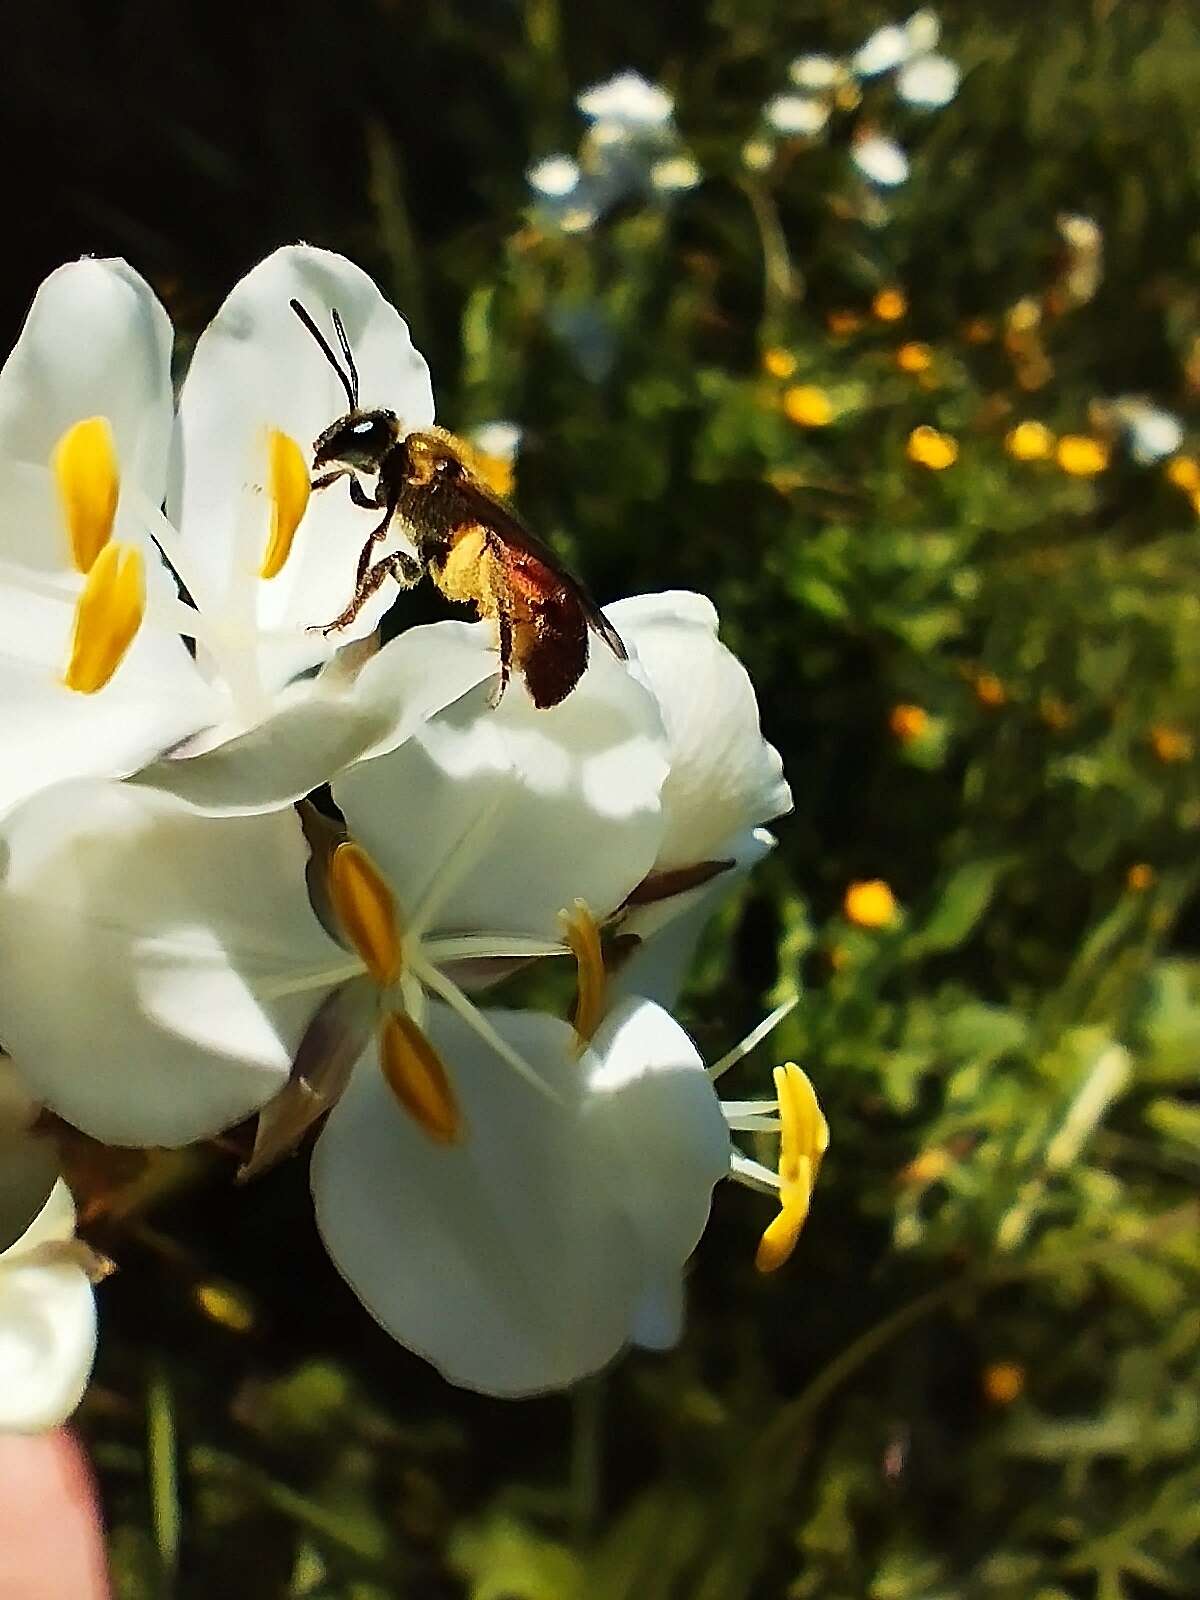
[[[0,848],[5,1045],[46,1106],[109,1144],[186,1144],[282,1086],[326,990],[270,986],[346,966],[293,811],[210,819],[66,784],[8,818]]]

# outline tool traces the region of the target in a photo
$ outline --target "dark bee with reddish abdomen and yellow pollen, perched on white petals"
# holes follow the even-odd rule
[[[354,595],[322,632],[347,627],[373,594],[392,578],[410,589],[424,573],[448,600],[464,600],[499,632],[499,702],[514,667],[533,704],[544,710],[566,699],[587,666],[589,634],[619,661],[626,646],[582,584],[554,552],[502,504],[467,466],[462,448],[443,429],[406,434],[395,411],[358,406],[358,370],[338,312],[333,326],[342,360],[299,301],[291,309],[338,373],[349,411],[314,442],[314,490],[349,480],[350,499],[382,512],[366,536]],[[374,477],[366,488],[362,475]],[[416,558],[403,550],[373,560],[397,522]]]

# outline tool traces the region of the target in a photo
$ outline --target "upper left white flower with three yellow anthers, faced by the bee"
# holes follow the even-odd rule
[[[149,286],[120,261],[80,261],[38,290],[0,373],[0,810],[64,778],[134,771],[202,730],[211,744],[254,726],[389,603],[320,632],[370,526],[344,496],[309,502],[312,438],[347,400],[293,294],[317,318],[341,312],[363,403],[432,419],[405,325],[326,251],[277,251],[234,290],[198,341],[174,434],[171,328]]]

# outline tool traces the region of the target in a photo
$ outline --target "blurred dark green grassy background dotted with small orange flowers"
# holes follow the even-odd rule
[[[726,1187],[682,1349],[526,1405],[368,1323],[301,1162],[232,1194],[230,1162],[189,1160],[109,1224],[126,1270],[83,1430],[122,1600],[1200,1592],[1197,510],[1120,440],[1091,477],[1006,448],[1027,419],[1104,440],[1094,403],[1131,392],[1200,445],[1194,8],[947,5],[949,109],[869,86],[766,170],[742,146],[790,58],[899,18],[347,13],[253,24],[226,90],[198,40],[163,138],[229,232],[206,253],[195,222],[126,227],[130,202],[104,243],[197,325],[230,251],[349,251],[413,318],[442,418],[522,424],[517,502],[602,598],[714,595],[797,805],[685,1021],[715,1056],[800,992],[736,1093],[800,1061],[832,1147],[781,1275]],[[526,163],[574,149],[573,93],[627,64],[675,91],[704,182],[539,224]],[[846,149],[872,117],[912,158],[874,224]],[[1104,232],[1080,304],[1059,211]],[[910,461],[917,427],[957,459]],[[869,878],[882,928],[843,912]]]

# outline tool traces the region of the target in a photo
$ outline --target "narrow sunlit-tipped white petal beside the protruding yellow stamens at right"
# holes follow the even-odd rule
[[[643,1259],[654,1277],[678,1272],[730,1171],[730,1130],[704,1062],[669,1011],[630,997],[605,1018],[586,1066],[587,1133],[610,1144]]]

